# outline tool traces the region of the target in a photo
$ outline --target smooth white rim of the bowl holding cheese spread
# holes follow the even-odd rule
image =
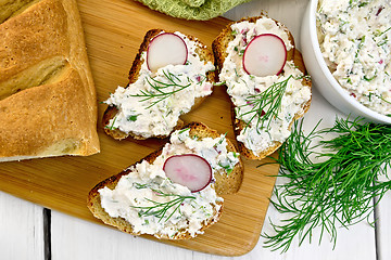
[[[330,69],[328,68],[325,58],[323,57],[321,51],[320,51],[320,44],[317,38],[317,27],[316,27],[316,13],[317,13],[317,5],[319,0],[311,0],[310,2],[310,39],[313,42],[314,46],[314,54],[317,63],[319,64],[319,67],[321,69],[321,73],[326,76],[327,80],[330,82],[331,87],[340,94],[340,96],[351,104],[355,109],[361,110],[363,114],[368,115],[368,119],[375,118],[379,121],[382,121],[384,123],[391,123],[391,117],[382,115],[378,112],[375,112],[362,103],[360,103],[354,98],[350,96],[348,94],[348,91],[343,89],[343,87],[337,81],[337,79],[332,76]]]

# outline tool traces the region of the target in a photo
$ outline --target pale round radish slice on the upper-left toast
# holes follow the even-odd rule
[[[163,32],[151,40],[147,49],[147,65],[151,72],[172,65],[182,65],[188,56],[182,38],[172,32]]]

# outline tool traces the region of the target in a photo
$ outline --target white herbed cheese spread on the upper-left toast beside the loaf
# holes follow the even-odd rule
[[[143,52],[137,81],[128,88],[118,87],[104,102],[118,109],[106,128],[143,138],[168,135],[179,116],[191,109],[195,99],[212,93],[213,84],[207,81],[206,73],[213,70],[214,65],[200,60],[195,52],[200,43],[178,31],[175,34],[187,46],[187,63],[151,72],[147,65],[147,52]]]

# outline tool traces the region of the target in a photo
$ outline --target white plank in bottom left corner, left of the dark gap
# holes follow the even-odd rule
[[[42,210],[0,192],[0,259],[45,259]]]

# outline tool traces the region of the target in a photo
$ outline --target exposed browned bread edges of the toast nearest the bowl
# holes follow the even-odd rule
[[[212,42],[212,50],[213,50],[213,53],[215,56],[215,65],[216,65],[218,72],[222,70],[224,61],[228,56],[228,53],[226,52],[227,47],[228,47],[229,42],[235,39],[235,36],[232,35],[232,30],[231,30],[230,26],[232,24],[244,22],[244,21],[248,21],[250,23],[255,23],[258,18],[262,18],[262,17],[268,17],[268,16],[266,14],[262,13],[260,16],[248,17],[248,18],[242,18],[238,22],[232,22],[232,23],[228,24],[227,27],[224,28],[222,30],[222,32],[216,37],[216,39]],[[289,40],[291,41],[291,43],[293,46],[293,48],[287,52],[287,61],[293,61],[294,64],[299,66],[299,69],[304,75],[306,75],[306,69],[304,67],[304,64],[298,63],[298,61],[301,61],[301,54],[294,48],[294,39],[293,39],[292,34],[288,30],[288,28],[286,26],[283,26],[279,22],[275,21],[275,23],[280,25],[280,27],[288,34]],[[306,78],[302,79],[302,83],[303,83],[303,86],[307,86],[310,89],[312,88],[311,81]],[[294,115],[294,117],[293,117],[294,119],[290,123],[289,129],[291,129],[293,121],[295,119],[299,119],[300,117],[302,117],[304,115],[304,113],[306,113],[308,110],[310,104],[311,104],[311,100],[308,100],[305,104],[303,104],[303,113]],[[240,134],[241,130],[245,128],[247,123],[236,117],[235,105],[232,103],[231,103],[231,120],[232,120],[235,135],[238,136]],[[258,155],[255,155],[252,151],[248,150],[242,142],[238,141],[237,143],[238,143],[240,154],[249,159],[263,159],[266,156],[273,154],[282,144],[281,142],[274,141],[269,147],[267,147],[266,150],[261,152]]]

